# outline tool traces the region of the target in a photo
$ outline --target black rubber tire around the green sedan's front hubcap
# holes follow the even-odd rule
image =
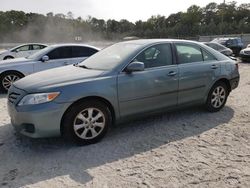
[[[95,126],[93,122],[90,123],[91,118],[89,119],[89,114],[85,114],[88,109],[94,109],[92,114],[99,113],[103,115],[103,117],[100,117],[98,120],[96,120],[95,123],[99,123],[104,121],[103,128],[100,128],[98,126]],[[87,112],[89,113],[89,112]],[[84,120],[78,118],[78,115],[83,115],[84,118],[88,119],[88,123],[84,123]],[[88,117],[87,117],[88,116]],[[95,117],[93,117],[93,120]],[[84,127],[79,128],[77,131],[75,130],[76,122],[85,124]],[[81,122],[82,121],[82,122]],[[99,122],[97,122],[99,121]],[[93,123],[93,124],[92,124]],[[61,127],[61,133],[62,136],[68,140],[73,141],[77,143],[78,145],[88,145],[88,144],[94,144],[99,142],[107,133],[109,127],[112,124],[112,116],[109,108],[102,102],[95,101],[95,100],[89,100],[89,101],[83,101],[80,103],[77,103],[73,105],[64,115],[62,127]],[[90,127],[94,126],[94,128]],[[93,136],[92,130],[95,129],[96,132],[98,132],[98,135],[91,138],[91,135]],[[99,129],[99,131],[98,131]],[[85,132],[86,131],[86,132]],[[86,137],[90,136],[89,138],[82,138],[80,137],[82,134],[84,134]],[[81,134],[81,135],[80,135]]]

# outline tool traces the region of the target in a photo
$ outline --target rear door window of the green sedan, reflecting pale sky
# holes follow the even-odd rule
[[[180,64],[203,61],[200,47],[189,44],[176,44]]]

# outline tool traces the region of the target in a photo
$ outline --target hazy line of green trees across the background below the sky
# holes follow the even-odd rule
[[[199,35],[250,33],[250,3],[237,6],[209,3],[190,6],[168,17],[157,15],[132,23],[88,17],[72,12],[46,15],[22,11],[0,11],[0,42],[72,42],[138,38],[195,38]]]

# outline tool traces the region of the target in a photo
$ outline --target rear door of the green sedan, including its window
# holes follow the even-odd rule
[[[216,58],[198,44],[175,43],[179,70],[178,104],[204,101],[220,74]]]

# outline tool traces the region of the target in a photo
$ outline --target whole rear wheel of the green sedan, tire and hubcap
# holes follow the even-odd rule
[[[216,91],[221,92],[222,95],[216,96],[215,95]],[[209,91],[207,101],[206,101],[206,109],[209,112],[218,112],[219,110],[221,110],[227,102],[228,94],[229,94],[229,89],[224,82],[215,83]],[[222,97],[223,95],[224,95],[224,98]]]

